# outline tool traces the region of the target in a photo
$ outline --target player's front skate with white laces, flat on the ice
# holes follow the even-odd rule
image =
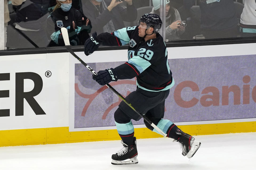
[[[133,138],[134,144],[131,146],[126,145],[123,141],[123,148],[121,148],[116,154],[112,155],[113,165],[124,165],[124,164],[137,164],[138,163],[138,151],[136,146],[136,138]]]

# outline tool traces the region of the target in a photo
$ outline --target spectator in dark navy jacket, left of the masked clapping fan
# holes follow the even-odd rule
[[[17,8],[15,28],[21,30],[38,47],[49,44],[46,36],[46,20],[49,0],[11,0]]]

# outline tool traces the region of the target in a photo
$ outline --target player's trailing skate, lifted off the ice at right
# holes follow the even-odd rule
[[[177,129],[176,134],[181,135],[178,140],[175,140],[179,142],[182,148],[182,155],[187,156],[188,158],[192,158],[194,156],[195,152],[198,150],[198,148],[201,145],[201,142],[195,141],[195,138],[192,137],[189,134],[184,133],[180,129]]]

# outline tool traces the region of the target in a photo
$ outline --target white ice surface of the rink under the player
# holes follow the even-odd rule
[[[120,141],[0,147],[0,169],[138,170],[256,169],[256,133],[199,135],[202,143],[193,158],[181,155],[170,138],[137,139],[138,164],[112,165]]]

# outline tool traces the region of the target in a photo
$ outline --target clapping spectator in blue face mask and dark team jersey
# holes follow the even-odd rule
[[[55,29],[55,32],[50,35],[51,42],[49,46],[65,45],[61,34],[62,27],[68,30],[70,45],[83,45],[85,40],[89,38],[91,31],[89,19],[82,17],[81,12],[75,8],[71,8],[72,0],[58,0],[56,2],[57,5],[47,21],[47,27],[50,29],[53,22]]]

